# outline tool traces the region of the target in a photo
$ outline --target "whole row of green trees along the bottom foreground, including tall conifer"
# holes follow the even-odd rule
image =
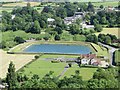
[[[69,78],[64,77],[63,79],[53,76],[53,73],[53,71],[50,71],[43,78],[40,78],[38,75],[34,74],[31,78],[29,78],[26,75],[22,75],[20,73],[17,74],[15,72],[14,64],[11,62],[9,64],[5,82],[7,82],[9,89],[47,88],[51,90],[53,88],[118,88],[118,68],[98,68],[93,74],[93,77],[88,81],[82,80],[79,70],[75,71],[75,75],[72,75]]]

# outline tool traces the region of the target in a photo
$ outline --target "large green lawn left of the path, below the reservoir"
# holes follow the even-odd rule
[[[65,66],[66,63],[51,63],[50,61],[45,61],[40,58],[23,68],[24,72],[22,73],[29,77],[33,74],[43,77],[45,74],[48,74],[49,71],[54,71],[53,75],[58,76],[64,70]]]

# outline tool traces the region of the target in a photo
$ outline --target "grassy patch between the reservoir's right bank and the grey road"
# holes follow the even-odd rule
[[[91,43],[91,44],[98,51],[96,52],[98,56],[108,56],[108,52],[106,48],[99,46],[97,44],[94,44],[94,43]]]

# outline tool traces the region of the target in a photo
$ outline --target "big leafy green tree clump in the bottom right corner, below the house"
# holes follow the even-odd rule
[[[112,72],[113,71],[113,72]],[[88,88],[118,88],[118,71],[115,68],[102,69],[94,73],[93,78],[88,81]]]

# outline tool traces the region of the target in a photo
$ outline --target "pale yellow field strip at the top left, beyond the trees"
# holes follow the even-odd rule
[[[19,3],[8,3],[8,4],[3,4],[3,7],[15,7],[15,6],[26,6],[28,2],[19,2]],[[40,2],[29,2],[31,6],[36,6],[39,5]]]

